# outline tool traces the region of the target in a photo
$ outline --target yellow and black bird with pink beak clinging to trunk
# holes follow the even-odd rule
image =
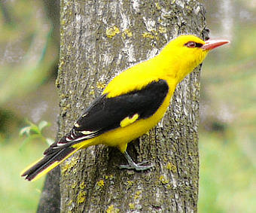
[[[116,147],[123,153],[128,164],[120,165],[120,169],[150,169],[151,165],[133,161],[126,152],[127,144],[160,122],[175,87],[203,62],[209,50],[229,42],[179,35],[157,56],[127,68],[109,82],[70,132],[50,145],[44,157],[24,169],[21,176],[35,181],[78,150],[99,144]]]

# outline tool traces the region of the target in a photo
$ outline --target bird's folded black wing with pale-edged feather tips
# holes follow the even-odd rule
[[[151,117],[163,103],[168,91],[166,81],[159,80],[152,81],[142,90],[134,90],[121,96],[100,96],[79,117],[71,132],[51,145],[44,154],[53,151],[52,148],[63,148],[116,129],[126,117],[133,117],[135,114],[139,115],[138,120]]]

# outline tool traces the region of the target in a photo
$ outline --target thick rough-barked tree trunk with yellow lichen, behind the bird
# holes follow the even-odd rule
[[[114,75],[155,56],[179,34],[203,38],[205,11],[187,1],[69,1],[60,3],[59,136]],[[116,148],[79,151],[61,166],[63,212],[194,212],[198,196],[199,68],[179,84],[169,111],[148,135],[128,145],[145,172],[120,170]]]

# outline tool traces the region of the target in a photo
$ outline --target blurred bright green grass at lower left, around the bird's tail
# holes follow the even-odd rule
[[[17,135],[16,135],[17,137]],[[20,172],[41,156],[45,143],[30,143],[20,151],[21,138],[0,137],[0,206],[1,212],[35,212],[44,178],[24,181]]]

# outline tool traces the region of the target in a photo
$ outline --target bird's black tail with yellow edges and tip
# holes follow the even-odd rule
[[[25,177],[26,180],[35,181],[38,178],[41,178],[41,176],[47,174],[47,172],[50,172],[51,169],[59,166],[59,163],[62,163],[81,148],[84,148],[83,143],[80,145],[76,144],[75,148],[68,146],[59,149],[56,148],[56,150],[54,150],[50,147],[44,152],[44,157],[24,169],[23,172],[21,172],[21,176]]]

